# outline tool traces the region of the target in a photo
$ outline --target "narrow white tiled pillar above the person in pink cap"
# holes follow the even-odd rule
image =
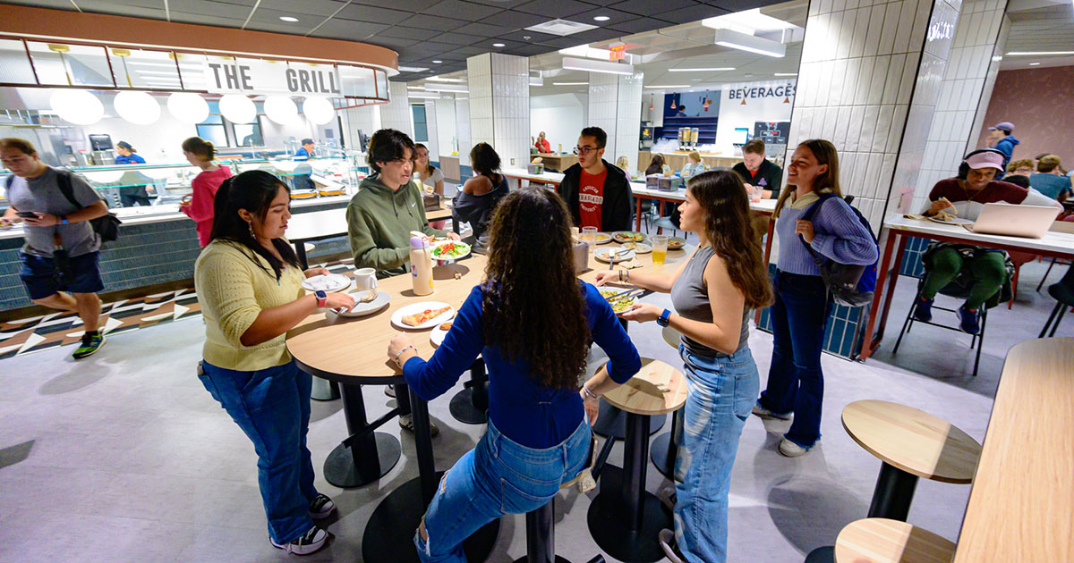
[[[984,119],[991,85],[999,72],[999,63],[992,61],[992,56],[1002,53],[997,45],[1002,47],[1005,42],[1003,34],[1008,27],[1003,25],[1007,19],[1003,15],[1005,9],[1004,0],[962,1],[913,197],[892,194],[892,210],[924,209],[932,187],[955,176],[962,155],[975,148],[970,145],[979,133],[982,124],[977,121]]]

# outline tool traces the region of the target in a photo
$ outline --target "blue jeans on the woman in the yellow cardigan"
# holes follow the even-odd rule
[[[202,361],[198,377],[246,432],[258,454],[258,486],[277,544],[297,539],[314,525],[314,463],[306,448],[313,379],[291,360],[257,371]]]

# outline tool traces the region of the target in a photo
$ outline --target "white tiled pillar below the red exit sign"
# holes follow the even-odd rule
[[[605,160],[614,163],[620,157],[638,163],[638,134],[641,122],[641,87],[644,75],[636,73],[622,76],[608,73],[590,73],[589,123],[608,133]]]

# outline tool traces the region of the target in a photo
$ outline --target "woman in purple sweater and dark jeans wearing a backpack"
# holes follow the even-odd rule
[[[812,221],[800,218],[821,193],[833,193],[821,204]],[[794,423],[780,442],[780,454],[798,457],[821,440],[824,374],[821,350],[831,301],[821,270],[807,250],[840,264],[869,265],[879,249],[839,189],[839,154],[828,140],[798,145],[787,165],[787,189],[775,203],[775,234],[780,257],[775,267],[772,318],[772,362],[768,387],[753,408],[761,418]]]

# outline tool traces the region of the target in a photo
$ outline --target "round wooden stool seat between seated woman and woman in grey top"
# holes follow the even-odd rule
[[[611,405],[640,415],[667,414],[686,404],[686,377],[652,358],[641,358],[641,369],[630,381],[606,392]]]

